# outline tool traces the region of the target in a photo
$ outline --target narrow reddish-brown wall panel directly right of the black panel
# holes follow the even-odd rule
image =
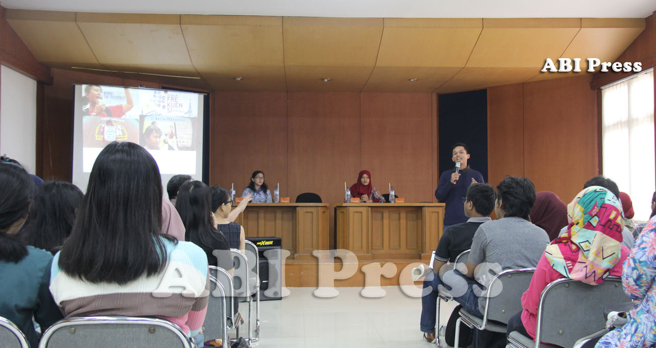
[[[524,175],[522,83],[487,89],[487,176],[497,186],[506,175]]]

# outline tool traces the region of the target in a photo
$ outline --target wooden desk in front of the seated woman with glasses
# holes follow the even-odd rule
[[[236,223],[247,237],[282,238],[290,259],[316,259],[314,250],[327,250],[328,208],[323,203],[251,203]]]

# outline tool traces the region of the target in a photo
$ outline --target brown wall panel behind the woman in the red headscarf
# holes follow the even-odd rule
[[[381,194],[388,183],[405,202],[432,202],[430,93],[361,93],[361,169]]]

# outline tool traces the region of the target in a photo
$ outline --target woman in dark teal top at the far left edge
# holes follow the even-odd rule
[[[51,253],[26,246],[16,235],[25,223],[35,185],[20,165],[0,162],[0,316],[14,322],[31,347],[39,336],[32,318],[46,330],[63,316],[48,290]]]

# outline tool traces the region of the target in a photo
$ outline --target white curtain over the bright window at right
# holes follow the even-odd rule
[[[653,76],[636,74],[602,89],[603,173],[631,197],[634,219],[643,221],[655,190]]]

